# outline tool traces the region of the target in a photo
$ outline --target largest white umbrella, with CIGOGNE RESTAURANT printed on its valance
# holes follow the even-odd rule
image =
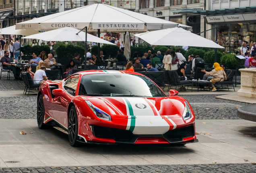
[[[64,27],[82,29],[85,26],[89,27],[90,24],[93,29],[127,29],[134,32],[143,30],[145,25],[149,30],[178,26],[178,23],[168,20],[96,3],[20,22],[16,24],[16,29],[52,30]]]

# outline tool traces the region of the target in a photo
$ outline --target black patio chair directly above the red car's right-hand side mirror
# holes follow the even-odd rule
[[[175,89],[177,89],[177,87],[180,86],[192,86],[192,82],[189,80],[182,80],[182,78],[180,76],[178,76],[178,73],[176,72],[176,70],[167,70],[167,76],[169,79],[169,87],[168,90],[171,89],[172,86],[175,87]]]

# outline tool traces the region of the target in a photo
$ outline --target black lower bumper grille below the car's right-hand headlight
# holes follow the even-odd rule
[[[180,128],[180,129],[170,130],[164,134],[164,136],[169,139],[182,139],[182,138],[193,137],[194,135],[195,135],[194,125]]]

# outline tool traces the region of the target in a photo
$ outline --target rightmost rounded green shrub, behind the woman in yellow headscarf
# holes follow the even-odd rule
[[[221,56],[221,64],[226,64],[227,66],[244,66],[245,59],[239,59],[235,57],[234,54],[224,54]]]

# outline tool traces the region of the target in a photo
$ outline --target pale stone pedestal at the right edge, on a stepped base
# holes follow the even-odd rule
[[[241,68],[241,89],[237,96],[256,99],[256,68]]]

